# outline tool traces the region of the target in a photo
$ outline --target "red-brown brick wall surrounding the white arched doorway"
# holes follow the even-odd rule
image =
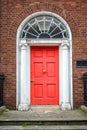
[[[20,23],[37,11],[51,11],[63,17],[72,31],[74,107],[83,104],[82,75],[76,60],[87,60],[86,0],[0,0],[0,71],[5,73],[4,104],[16,106],[16,34]]]

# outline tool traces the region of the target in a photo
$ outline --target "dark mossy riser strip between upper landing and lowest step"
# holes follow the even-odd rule
[[[87,120],[0,120],[3,125],[87,125]]]

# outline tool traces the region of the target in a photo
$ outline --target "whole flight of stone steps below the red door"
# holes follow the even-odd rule
[[[14,130],[16,130],[16,127],[20,130],[23,126],[24,127],[22,129],[24,130],[27,127],[29,127],[31,130],[39,129],[39,127],[42,127],[41,130],[45,130],[47,127],[49,130],[50,127],[52,127],[53,130],[55,130],[57,127],[58,129],[65,128],[65,130],[68,130],[69,127],[69,129],[72,128],[73,130],[73,128],[78,127],[78,129],[81,128],[82,130],[83,126],[87,130],[86,113],[81,110],[61,111],[56,109],[38,110],[32,108],[29,111],[6,110],[0,115],[0,130],[3,130],[4,128],[6,128],[6,130],[9,130],[9,128],[13,126],[15,127]]]

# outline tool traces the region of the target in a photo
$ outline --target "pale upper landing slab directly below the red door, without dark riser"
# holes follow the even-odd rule
[[[58,107],[40,107],[31,106],[29,111],[4,111],[0,115],[0,121],[87,121],[87,113],[80,109],[62,111]]]

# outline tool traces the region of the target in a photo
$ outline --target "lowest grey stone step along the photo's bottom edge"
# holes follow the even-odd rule
[[[87,130],[87,125],[0,126],[0,130]]]

